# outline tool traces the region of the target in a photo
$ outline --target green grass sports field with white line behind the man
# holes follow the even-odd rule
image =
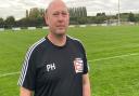
[[[0,96],[18,96],[18,71],[28,46],[47,30],[0,31]],[[70,28],[83,41],[91,96],[139,96],[139,26]]]

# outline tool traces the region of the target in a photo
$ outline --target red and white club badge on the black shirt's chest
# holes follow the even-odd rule
[[[75,58],[74,59],[74,67],[75,67],[75,72],[83,72],[84,70],[84,61],[81,58]]]

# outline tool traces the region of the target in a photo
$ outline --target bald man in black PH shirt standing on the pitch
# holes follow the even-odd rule
[[[45,18],[49,33],[26,53],[18,80],[21,96],[90,96],[85,50],[66,36],[70,14],[65,3],[53,0]]]

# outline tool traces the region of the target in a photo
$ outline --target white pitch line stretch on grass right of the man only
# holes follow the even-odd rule
[[[98,59],[92,59],[92,60],[88,60],[88,61],[99,61],[99,60],[113,59],[113,58],[122,58],[122,57],[136,56],[136,55],[139,55],[139,53],[127,54],[127,55],[118,55],[118,56],[113,56],[113,57],[98,58]]]

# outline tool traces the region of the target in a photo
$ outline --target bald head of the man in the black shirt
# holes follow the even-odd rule
[[[49,25],[50,32],[54,35],[65,35],[70,15],[65,3],[62,0],[53,0],[45,15],[46,23]]]

